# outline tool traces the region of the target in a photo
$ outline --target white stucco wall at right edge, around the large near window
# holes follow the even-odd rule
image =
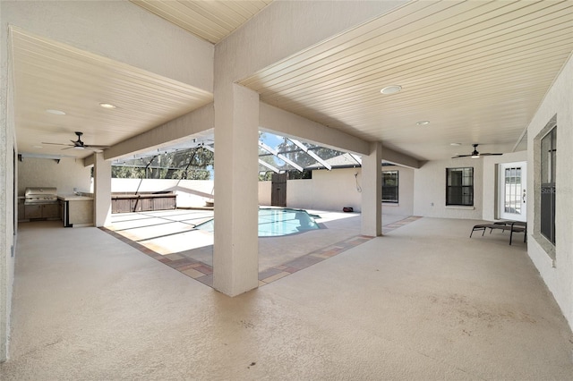
[[[539,191],[539,174],[535,173],[538,157],[535,157],[535,138],[557,115],[557,174],[556,174],[556,241],[554,252],[550,242],[535,231],[539,216],[535,216],[535,187]],[[573,58],[563,67],[552,88],[547,92],[542,105],[527,127],[527,224],[531,237],[527,243],[527,253],[560,305],[569,326],[573,327]],[[535,161],[537,160],[537,163]],[[533,200],[532,200],[533,199]],[[534,202],[532,202],[534,201]],[[553,259],[554,258],[554,259]]]

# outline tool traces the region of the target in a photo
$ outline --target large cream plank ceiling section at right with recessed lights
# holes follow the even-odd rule
[[[519,138],[572,50],[571,1],[411,2],[240,83],[270,105],[433,160],[472,143],[526,149]],[[402,90],[382,95],[389,85]]]

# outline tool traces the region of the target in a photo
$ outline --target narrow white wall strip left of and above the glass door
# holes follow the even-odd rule
[[[482,218],[486,221],[493,221],[497,216],[499,188],[496,176],[498,175],[497,165],[502,163],[514,163],[526,161],[527,152],[514,152],[503,154],[500,157],[483,157],[483,210]]]

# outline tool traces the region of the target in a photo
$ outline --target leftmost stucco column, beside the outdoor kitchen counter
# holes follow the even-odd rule
[[[103,153],[94,154],[93,193],[94,223],[105,226],[111,218],[111,161],[105,160]]]

